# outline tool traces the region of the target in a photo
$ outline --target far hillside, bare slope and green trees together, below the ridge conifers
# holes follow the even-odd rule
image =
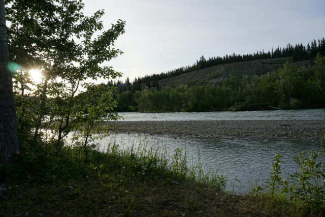
[[[145,85],[153,88],[137,91],[140,83],[120,88],[115,96],[117,111],[325,108],[325,57],[319,54],[314,59],[290,60],[278,58],[223,64],[160,80],[152,76],[150,85],[147,80],[141,84],[141,89],[146,88]],[[167,86],[169,88],[165,88]],[[137,89],[132,89],[135,87]]]

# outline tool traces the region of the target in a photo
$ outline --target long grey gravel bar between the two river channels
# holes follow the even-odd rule
[[[115,133],[254,140],[324,140],[325,120],[108,121]]]

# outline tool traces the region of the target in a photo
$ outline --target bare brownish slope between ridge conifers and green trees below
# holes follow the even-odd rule
[[[277,70],[285,63],[288,58],[276,58],[276,59],[262,59],[254,61],[245,61],[241,63],[223,64],[218,66],[209,67],[202,70],[189,72],[183,75],[175,76],[172,78],[166,78],[158,81],[160,87],[163,86],[178,86],[181,84],[196,85],[196,84],[212,84],[219,85],[230,75],[241,76],[254,74],[262,75],[268,72]],[[312,64],[313,60],[302,60],[294,62],[296,67],[303,65],[308,66]],[[144,89],[145,83],[141,84],[141,89]]]

